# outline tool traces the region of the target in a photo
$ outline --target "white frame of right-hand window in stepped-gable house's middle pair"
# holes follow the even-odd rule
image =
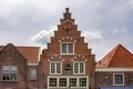
[[[74,72],[74,65],[78,63],[78,72]],[[80,63],[83,63],[83,72],[80,72]],[[74,61],[73,62],[73,75],[85,75],[85,62],[84,61]]]

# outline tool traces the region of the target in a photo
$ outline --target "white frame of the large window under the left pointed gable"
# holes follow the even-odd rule
[[[4,71],[3,71],[3,67],[9,67],[9,80],[3,80],[3,73],[4,73]],[[17,79],[16,80],[11,80],[10,79],[10,75],[11,75],[11,67],[16,67],[17,68],[17,71],[16,71],[16,75],[17,75]],[[2,81],[18,81],[18,66],[2,66]]]

